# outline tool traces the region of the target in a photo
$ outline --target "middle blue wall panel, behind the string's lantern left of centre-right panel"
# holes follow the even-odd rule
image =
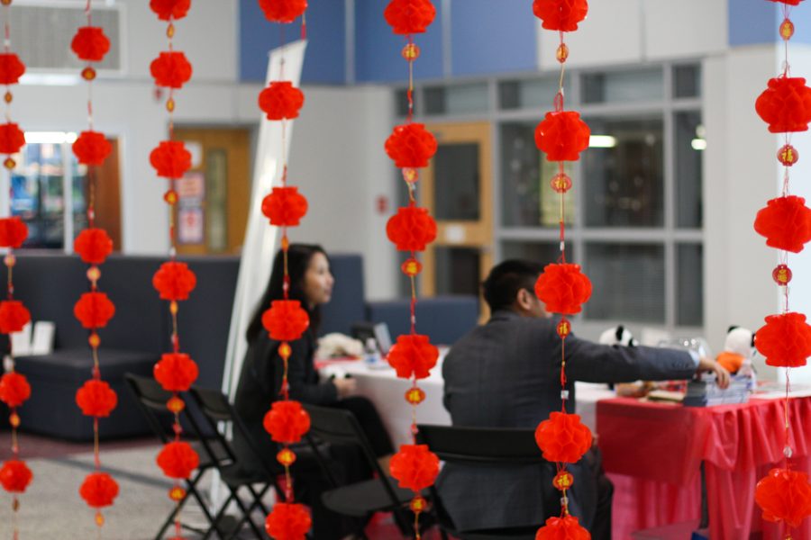
[[[499,0],[500,1],[500,0]],[[400,51],[405,36],[396,35],[386,23],[386,0],[355,1],[355,80],[405,82],[408,68]],[[414,63],[415,78],[442,77],[442,6],[436,5],[436,18],[425,33],[415,35],[420,58]]]

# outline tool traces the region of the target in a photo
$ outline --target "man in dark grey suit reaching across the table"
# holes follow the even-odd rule
[[[454,426],[535,428],[560,410],[560,337],[556,320],[534,293],[541,272],[540,265],[509,260],[482,284],[490,320],[451,347],[442,365],[444,405]],[[575,381],[689,379],[697,371],[714,371],[722,387],[729,383],[723,367],[685,351],[610,347],[573,334],[565,351],[569,412],[575,412]],[[610,538],[613,486],[602,473],[599,454],[589,452],[570,469],[576,479],[571,513],[593,538]],[[437,488],[460,531],[530,527],[560,513],[554,475],[553,464],[509,469],[447,464]]]

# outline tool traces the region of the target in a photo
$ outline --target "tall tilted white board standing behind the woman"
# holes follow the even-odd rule
[[[270,51],[268,76],[265,85],[271,80],[280,80],[282,50],[284,50],[284,80],[298,86],[301,67],[304,62],[306,40],[288,43],[282,48]],[[270,277],[270,266],[277,250],[278,228],[269,225],[262,214],[262,198],[270,193],[274,185],[281,183],[282,164],[282,122],[269,121],[260,114],[260,133],[256,146],[256,161],[253,167],[251,187],[251,209],[248,212],[248,227],[245,243],[242,245],[240,273],[237,277],[231,315],[231,329],[228,334],[228,349],[223,368],[223,392],[233,396],[240,380],[242,361],[248,344],[245,330],[251,322],[251,315],[260,301]],[[290,141],[293,139],[293,121],[287,121],[285,151],[290,155]]]

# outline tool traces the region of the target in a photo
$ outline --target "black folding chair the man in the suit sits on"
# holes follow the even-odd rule
[[[451,428],[450,426],[417,426],[417,441],[446,464],[469,466],[546,465],[535,444],[533,429],[505,428]],[[442,538],[448,535],[461,540],[534,540],[542,523],[533,527],[514,527],[476,531],[460,531],[442,507],[442,499],[432,486],[433,509],[439,522]]]

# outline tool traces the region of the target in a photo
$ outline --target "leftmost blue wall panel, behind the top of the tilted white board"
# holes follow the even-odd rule
[[[309,0],[307,52],[302,83],[346,83],[346,26],[343,0]],[[240,0],[240,80],[264,81],[268,52],[281,43],[298,40],[301,24],[270,23],[256,0]]]

